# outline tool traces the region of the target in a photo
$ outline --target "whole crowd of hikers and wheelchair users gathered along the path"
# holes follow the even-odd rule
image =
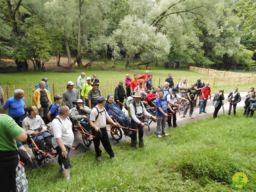
[[[156,134],[158,138],[161,138],[161,134],[168,135],[165,128],[166,122],[168,128],[177,126],[176,111],[179,108],[183,111],[181,118],[185,118],[190,107],[189,117],[193,118],[196,101],[198,100],[199,114],[201,114],[202,112],[206,113],[207,100],[211,98],[209,82],[204,83],[198,79],[190,87],[186,82],[186,78],[183,78],[182,82],[174,87],[172,74],[169,73],[164,86],[154,88],[152,75],[147,70],[142,76],[138,76],[135,73],[134,79],[126,74],[124,82],[120,81],[115,88],[114,95],[109,94],[107,98],[102,96],[98,88],[100,81],[96,74],[93,75],[93,78],[90,78],[86,77],[85,73],[81,73],[76,81],[78,90],[74,88],[74,82],[68,81],[63,95],[55,94],[54,102],[52,103],[47,81],[48,78],[42,78],[42,81],[32,90],[34,92],[32,98],[34,106],[29,106],[26,110],[28,115],[22,121],[23,130],[16,126],[14,122],[19,123],[20,117],[24,115],[24,108],[26,108],[24,91],[21,89],[15,90],[14,97],[5,101],[4,93],[0,87],[0,107],[2,107],[2,113],[5,114],[5,110],[8,108],[8,116],[13,119],[6,118],[5,121],[4,118],[1,118],[0,120],[5,121],[6,125],[13,127],[15,134],[10,134],[8,137],[11,142],[13,139],[16,140],[17,136],[25,131],[25,133],[34,136],[35,142],[41,150],[50,154],[57,153],[59,169],[67,180],[70,180],[71,164],[69,151],[74,141],[73,131],[77,131],[76,128],[79,128],[79,124],[94,136],[89,139],[93,140],[96,158],[98,161],[101,161],[102,151],[99,147],[100,142],[102,142],[110,158],[114,158],[114,152],[106,130],[107,122],[114,126],[120,124],[125,128],[132,127],[134,129],[132,131],[128,129],[123,131],[125,135],[131,137],[130,146],[136,150],[137,132],[138,146],[144,147],[143,128],[146,126],[144,116],[152,118],[155,122],[157,121]],[[255,110],[252,106],[256,103],[253,87],[251,87],[246,96],[244,115],[248,117],[250,114],[252,117]],[[130,110],[131,120],[122,111],[124,99],[128,101],[129,106],[126,107]],[[218,111],[224,104],[223,100],[224,90],[221,89],[214,95],[214,118],[217,118]],[[231,114],[232,107],[234,115],[236,115],[236,104],[240,101],[241,96],[238,88],[234,88],[234,91],[228,95],[228,102],[230,103],[228,115]],[[155,112],[152,106],[156,108]],[[52,136],[47,131],[47,125],[43,120],[45,118],[51,122],[50,131]],[[71,120],[74,122],[74,126],[72,126]],[[22,137],[22,139],[18,138],[17,140],[24,141],[26,138]],[[0,145],[0,153],[4,154],[4,156],[0,157],[1,162],[9,160],[5,155],[6,150],[9,150],[9,148],[6,148],[6,145]],[[10,150],[16,151],[16,147],[12,146]],[[15,159],[16,161],[16,153],[14,156],[13,160]],[[3,178],[3,174],[0,174],[0,176]]]

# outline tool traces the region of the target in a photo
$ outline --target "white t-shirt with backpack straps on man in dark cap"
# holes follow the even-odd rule
[[[90,121],[93,121],[95,126],[98,128],[104,128],[106,127],[106,118],[109,117],[108,113],[106,112],[106,109],[102,107],[102,109],[99,109],[99,112],[97,111],[98,106],[94,107],[92,109],[92,112],[90,114]],[[99,114],[97,120],[95,121],[96,116]]]

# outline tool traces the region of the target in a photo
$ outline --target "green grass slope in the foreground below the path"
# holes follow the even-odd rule
[[[103,150],[102,162],[89,151],[71,159],[70,183],[58,173],[58,164],[26,172],[30,191],[149,191],[230,192],[228,182],[244,172],[256,181],[254,118],[219,115],[167,130],[169,136],[144,136],[144,148],[131,150],[129,142],[113,146],[116,158]],[[235,122],[235,123],[234,123]],[[256,191],[252,183],[242,191]]]

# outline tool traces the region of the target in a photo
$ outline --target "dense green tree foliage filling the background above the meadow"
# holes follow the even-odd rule
[[[112,57],[126,68],[253,69],[255,10],[254,0],[1,0],[0,58],[13,58],[20,70],[28,60],[44,70],[62,54],[70,68]],[[131,64],[134,57],[140,62]]]

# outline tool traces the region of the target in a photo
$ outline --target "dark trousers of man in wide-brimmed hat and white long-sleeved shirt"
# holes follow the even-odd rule
[[[139,117],[138,120],[140,120],[141,122],[144,123],[144,119],[143,116]],[[131,120],[131,127],[133,129],[139,130],[139,146],[142,147],[144,146],[144,142],[143,142],[143,134],[144,134],[144,130],[143,127],[136,123],[133,119]],[[137,131],[132,131],[132,138],[131,138],[131,147],[136,147],[137,145]]]

